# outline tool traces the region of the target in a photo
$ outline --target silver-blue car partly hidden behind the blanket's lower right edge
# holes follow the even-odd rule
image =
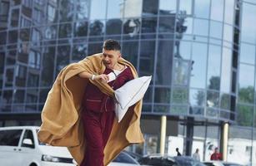
[[[140,165],[127,151],[122,151],[108,166],[138,166]]]

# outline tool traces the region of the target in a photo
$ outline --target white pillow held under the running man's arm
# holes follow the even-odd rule
[[[128,81],[118,90],[114,91],[116,98],[115,113],[118,117],[118,122],[123,119],[123,116],[127,112],[128,108],[138,100],[143,98],[143,95],[148,89],[148,85],[151,81],[152,76],[142,76]]]

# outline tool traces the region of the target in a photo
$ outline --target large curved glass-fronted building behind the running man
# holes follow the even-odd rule
[[[131,150],[158,153],[166,115],[165,153],[198,148],[208,160],[220,147],[255,165],[255,16],[255,0],[0,0],[0,126],[40,125],[63,66],[113,38],[139,76],[153,76],[146,142]]]

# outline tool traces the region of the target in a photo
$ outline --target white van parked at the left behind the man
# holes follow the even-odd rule
[[[38,129],[35,126],[0,127],[0,165],[76,165],[66,147],[40,143]]]

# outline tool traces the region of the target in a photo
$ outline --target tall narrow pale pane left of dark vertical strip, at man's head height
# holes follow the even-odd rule
[[[230,92],[231,62],[232,62],[231,50],[229,50],[228,48],[223,48],[220,90],[227,93]]]

